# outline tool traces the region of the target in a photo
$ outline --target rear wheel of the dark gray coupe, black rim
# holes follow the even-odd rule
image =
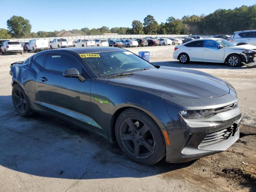
[[[19,96],[21,99],[19,99]],[[30,109],[29,100],[19,84],[15,84],[12,87],[12,103],[20,116],[29,117],[32,115],[33,112]]]

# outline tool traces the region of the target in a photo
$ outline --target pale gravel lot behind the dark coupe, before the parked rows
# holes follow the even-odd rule
[[[172,52],[174,51],[174,45],[166,46],[152,46],[152,47],[131,47],[125,48],[138,55],[139,51],[150,51],[150,61],[166,60],[172,58]],[[24,54],[0,54],[0,67],[9,66],[13,62],[23,61],[26,58],[32,56],[33,52],[24,52]]]

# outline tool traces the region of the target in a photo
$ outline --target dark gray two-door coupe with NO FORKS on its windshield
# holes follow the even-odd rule
[[[54,114],[133,160],[186,162],[226,150],[242,118],[235,89],[196,70],[154,66],[120,48],[47,50],[11,65],[21,116]]]

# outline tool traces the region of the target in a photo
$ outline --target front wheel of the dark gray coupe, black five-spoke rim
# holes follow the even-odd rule
[[[160,128],[141,110],[124,110],[116,120],[115,134],[124,154],[138,163],[152,165],[166,155],[165,140]]]

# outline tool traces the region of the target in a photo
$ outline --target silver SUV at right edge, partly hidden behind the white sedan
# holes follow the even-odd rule
[[[256,30],[234,32],[229,41],[236,45],[250,44],[256,46]]]

